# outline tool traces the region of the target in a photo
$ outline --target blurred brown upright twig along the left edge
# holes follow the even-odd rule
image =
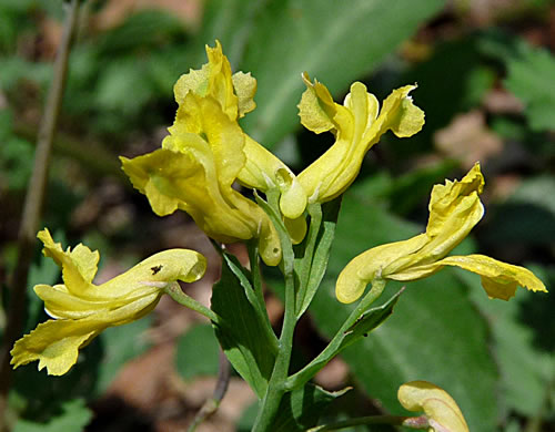
[[[6,410],[11,384],[10,349],[21,333],[26,317],[27,277],[34,251],[34,236],[44,203],[52,141],[65,88],[68,58],[78,21],[79,0],[68,1],[67,8],[63,35],[54,62],[54,73],[44,106],[44,114],[39,127],[33,173],[27,191],[23,216],[18,234],[19,257],[9,284],[11,287],[10,308],[3,344],[0,349],[0,430],[2,431],[8,429]]]

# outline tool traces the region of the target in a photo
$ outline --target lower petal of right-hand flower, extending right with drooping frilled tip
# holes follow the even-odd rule
[[[508,300],[521,286],[531,291],[547,292],[545,285],[528,269],[502,263],[484,255],[446,257],[437,266],[456,266],[482,276],[490,298]]]

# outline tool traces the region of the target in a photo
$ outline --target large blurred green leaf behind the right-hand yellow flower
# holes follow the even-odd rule
[[[410,238],[420,229],[365,203],[364,184],[343,199],[336,240],[326,278],[310,311],[317,328],[332,337],[350,312],[333,294],[342,267],[379,244]],[[386,292],[398,287],[390,282]],[[482,288],[473,287],[482,291]],[[488,348],[488,329],[467,298],[466,286],[442,270],[411,282],[395,313],[342,357],[372,398],[398,413],[397,388],[427,380],[446,389],[458,402],[472,431],[495,429],[498,372]]]

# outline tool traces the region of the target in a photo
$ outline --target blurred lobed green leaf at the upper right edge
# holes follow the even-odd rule
[[[505,86],[524,102],[532,130],[555,131],[555,56],[544,49],[522,47],[507,61]]]

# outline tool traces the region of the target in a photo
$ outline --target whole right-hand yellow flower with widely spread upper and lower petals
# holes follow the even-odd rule
[[[483,255],[444,258],[484,215],[478,195],[484,187],[480,164],[460,181],[435,185],[430,200],[426,232],[408,240],[374,247],[352,259],[341,271],[335,294],[342,302],[355,301],[374,279],[416,280],[445,266],[456,266],[482,276],[490,298],[508,300],[517,286],[546,291],[544,284],[526,268]]]

